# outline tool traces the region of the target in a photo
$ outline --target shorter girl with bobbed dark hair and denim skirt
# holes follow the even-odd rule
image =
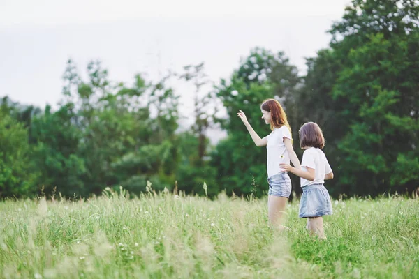
[[[300,218],[308,218],[307,229],[310,234],[317,234],[325,239],[323,215],[332,215],[332,203],[328,190],[323,183],[333,179],[333,172],[325,153],[321,151],[325,139],[321,128],[313,122],[305,123],[300,128],[300,147],[304,150],[301,169],[295,169],[283,163],[281,167],[301,177],[302,196],[300,201]]]

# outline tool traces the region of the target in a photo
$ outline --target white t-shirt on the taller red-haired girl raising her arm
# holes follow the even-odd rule
[[[279,172],[284,172],[284,169],[279,167],[280,163],[290,163],[290,157],[284,144],[284,137],[291,140],[290,130],[286,126],[281,128],[274,128],[272,132],[266,136],[267,140],[267,177],[270,177]]]

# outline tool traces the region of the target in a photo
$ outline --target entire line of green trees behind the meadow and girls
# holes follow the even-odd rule
[[[300,159],[298,129],[306,121],[321,126],[335,172],[331,195],[411,193],[419,187],[418,18],[419,1],[353,0],[328,31],[329,47],[307,58],[307,74],[284,52],[255,47],[210,90],[203,63],[159,82],[135,75],[128,85],[110,81],[100,61],[87,65],[83,80],[69,60],[57,110],[2,99],[0,197],[87,197],[119,186],[138,194],[147,181],[156,190],[205,195],[205,182],[210,196],[264,195],[266,150],[235,114],[244,110],[267,135],[259,107],[266,98],[284,106]],[[171,79],[193,85],[187,129],[179,129]],[[212,146],[216,127],[227,137]],[[296,193],[299,186],[293,177]]]

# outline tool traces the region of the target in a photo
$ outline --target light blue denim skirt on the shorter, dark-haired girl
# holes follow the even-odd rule
[[[332,202],[328,190],[323,184],[313,184],[302,187],[300,200],[300,218],[332,215]]]

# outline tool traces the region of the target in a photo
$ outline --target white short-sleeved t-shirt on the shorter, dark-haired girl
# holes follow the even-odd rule
[[[325,175],[332,172],[325,153],[323,153],[321,149],[315,147],[306,149],[302,154],[301,169],[307,172],[307,167],[311,167],[311,169],[315,170],[314,181],[302,178],[300,179],[301,187],[313,184],[323,184],[325,183]]]

